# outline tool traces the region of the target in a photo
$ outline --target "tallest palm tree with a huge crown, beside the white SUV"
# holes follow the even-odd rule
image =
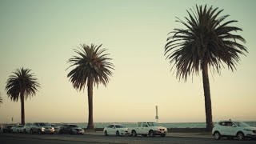
[[[223,22],[229,15],[219,17],[223,10],[210,6],[196,6],[196,10],[188,11],[186,22],[178,18],[186,29],[174,29],[167,38],[165,46],[166,59],[170,61],[171,70],[176,70],[176,78],[186,81],[189,75],[198,75],[202,70],[202,82],[206,109],[206,130],[213,128],[210,100],[210,84],[208,70],[220,74],[225,63],[229,70],[236,70],[235,66],[240,58],[238,54],[247,53],[241,42],[246,40],[238,34],[242,31],[236,26],[229,26],[235,20]],[[191,13],[190,13],[191,12]],[[240,42],[240,43],[239,43]]]

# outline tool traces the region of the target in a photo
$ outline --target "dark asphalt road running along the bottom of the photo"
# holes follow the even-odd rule
[[[238,141],[237,139],[228,140],[214,140],[213,138],[178,138],[178,137],[116,137],[116,136],[103,136],[103,135],[70,135],[70,134],[44,134],[44,135],[30,135],[30,134],[0,134],[1,144],[84,144],[84,143],[170,143],[170,144],[183,144],[183,143],[198,143],[198,144],[208,144],[208,143],[255,143],[255,140],[243,140]]]

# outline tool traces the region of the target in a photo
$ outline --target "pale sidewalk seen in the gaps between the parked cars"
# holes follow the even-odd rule
[[[104,135],[102,131],[85,132],[86,135]],[[214,138],[211,133],[167,133],[166,137],[181,138]]]

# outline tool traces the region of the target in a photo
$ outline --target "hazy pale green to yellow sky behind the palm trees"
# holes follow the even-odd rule
[[[210,74],[213,120],[256,121],[254,0],[0,0],[0,123],[20,122],[20,102],[6,81],[22,66],[41,88],[25,103],[26,122],[87,122],[87,91],[74,90],[66,62],[80,44],[103,44],[115,66],[108,86],[94,88],[94,122],[205,122],[202,74],[178,82],[164,56],[167,34],[182,28],[195,4],[224,9],[246,39],[237,70]]]

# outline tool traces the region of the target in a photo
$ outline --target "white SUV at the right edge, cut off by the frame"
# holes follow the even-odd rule
[[[245,122],[220,121],[212,130],[215,139],[226,138],[256,138],[256,127],[247,125]]]

